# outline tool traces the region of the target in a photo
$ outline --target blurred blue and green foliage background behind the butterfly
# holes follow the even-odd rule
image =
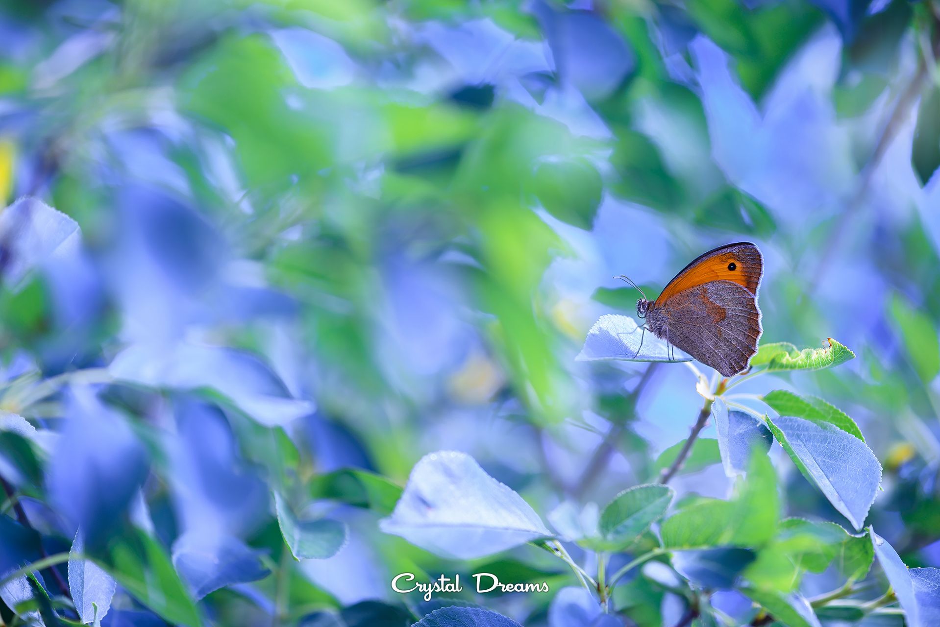
[[[346,467],[403,484],[458,449],[544,517],[649,480],[696,418],[694,377],[662,365],[634,397],[645,366],[574,356],[600,315],[634,311],[614,275],[651,297],[746,240],[764,339],[858,355],[750,390],[852,415],[885,466],[870,521],[908,565],[940,566],[938,16],[932,0],[0,3],[0,205],[35,196],[81,229],[22,275],[23,251],[0,249],[0,407],[48,453],[39,480],[7,479],[46,553],[128,516],[167,555],[230,538],[265,570],[200,602],[219,625],[478,571],[309,486]],[[716,466],[676,485],[729,489]],[[798,473],[786,485],[788,513],[831,511]],[[282,559],[272,490],[348,524],[340,553]],[[485,566],[573,581],[532,547]],[[551,600],[476,601],[537,627]],[[669,619],[636,604],[640,624]],[[104,624],[163,623],[118,590]]]

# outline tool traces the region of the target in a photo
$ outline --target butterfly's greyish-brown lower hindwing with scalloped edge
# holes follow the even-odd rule
[[[754,293],[725,280],[682,290],[650,315],[669,343],[724,377],[747,368],[763,331]]]

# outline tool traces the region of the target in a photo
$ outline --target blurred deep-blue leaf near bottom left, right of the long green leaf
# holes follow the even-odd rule
[[[211,541],[197,534],[181,536],[173,543],[173,565],[196,601],[219,588],[257,581],[270,573],[256,551],[231,536]]]

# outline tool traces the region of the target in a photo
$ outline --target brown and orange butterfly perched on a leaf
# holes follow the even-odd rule
[[[758,351],[762,275],[763,257],[755,244],[719,246],[682,268],[655,301],[640,290],[636,315],[646,319],[644,331],[730,377],[747,369]]]

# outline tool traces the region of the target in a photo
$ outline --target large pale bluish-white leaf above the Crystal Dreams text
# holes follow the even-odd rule
[[[522,496],[455,451],[421,458],[380,526],[440,556],[473,559],[551,537]]]

